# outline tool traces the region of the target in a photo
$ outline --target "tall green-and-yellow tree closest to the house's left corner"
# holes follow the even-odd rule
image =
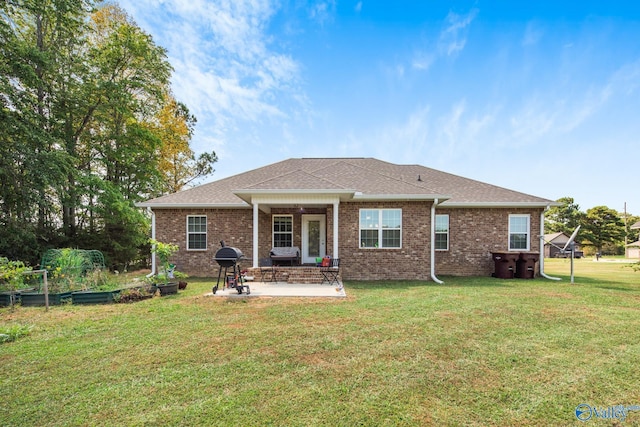
[[[162,141],[148,123],[165,103],[171,66],[165,50],[115,5],[92,15],[92,29],[89,58],[100,98],[81,139],[84,182],[91,186],[83,213],[110,262],[123,268],[147,240],[148,224],[135,203],[163,185],[155,155]]]

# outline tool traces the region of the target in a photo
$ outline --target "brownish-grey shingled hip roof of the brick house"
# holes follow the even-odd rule
[[[334,194],[342,200],[433,200],[441,206],[544,207],[551,200],[420,165],[374,158],[293,158],[151,199],[141,207],[249,207],[250,194]]]

